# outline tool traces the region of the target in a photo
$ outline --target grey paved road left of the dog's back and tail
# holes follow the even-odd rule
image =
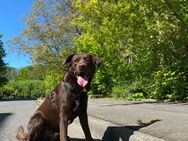
[[[34,101],[0,101],[0,140],[15,141],[17,128],[26,127],[28,117],[34,112]]]

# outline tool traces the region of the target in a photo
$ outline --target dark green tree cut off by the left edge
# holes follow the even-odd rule
[[[0,35],[0,38],[1,37],[2,35]],[[3,49],[3,42],[0,40],[0,86],[7,81],[7,78],[5,77],[6,64],[3,60],[3,57],[5,57],[5,51]]]

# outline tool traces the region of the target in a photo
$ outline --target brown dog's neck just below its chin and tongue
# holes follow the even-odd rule
[[[84,90],[84,89],[86,89],[86,90],[88,91],[88,88],[89,88],[89,87],[86,86],[86,88],[83,88],[83,87],[81,87],[80,85],[78,85],[76,76],[73,75],[73,74],[70,73],[70,72],[67,72],[67,73],[65,74],[65,76],[64,76],[64,78],[63,78],[63,81],[64,81],[64,82],[68,82],[70,85],[72,85],[73,87],[79,89],[80,91],[82,91],[82,90]],[[90,82],[89,82],[89,83],[90,83]],[[88,85],[90,85],[90,84],[88,84]]]

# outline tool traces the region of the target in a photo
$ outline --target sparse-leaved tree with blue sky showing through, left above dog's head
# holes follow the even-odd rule
[[[75,28],[69,24],[69,10],[66,1],[36,1],[33,12],[23,18],[27,26],[10,45],[30,54],[44,70],[62,73],[62,62],[74,48],[76,36]]]

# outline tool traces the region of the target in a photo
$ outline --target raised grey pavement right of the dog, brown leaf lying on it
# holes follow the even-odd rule
[[[90,99],[88,114],[167,141],[188,141],[188,103]],[[138,119],[162,121],[141,128]]]

